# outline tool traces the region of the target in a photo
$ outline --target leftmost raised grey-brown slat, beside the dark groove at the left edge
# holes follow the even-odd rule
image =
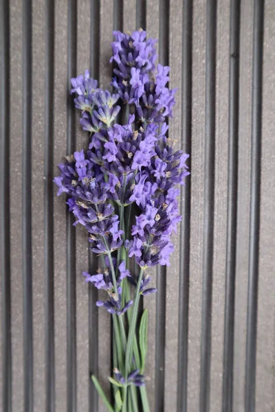
[[[10,247],[12,295],[12,409],[23,412],[22,295],[22,7],[10,2]],[[17,28],[16,28],[17,27]],[[16,156],[14,157],[14,153]]]

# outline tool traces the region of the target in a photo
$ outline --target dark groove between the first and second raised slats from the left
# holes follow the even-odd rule
[[[24,408],[33,410],[32,341],[32,1],[22,3],[22,276]]]

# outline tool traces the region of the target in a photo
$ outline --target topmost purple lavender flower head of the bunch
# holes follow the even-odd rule
[[[173,115],[176,89],[167,87],[170,67],[157,65],[156,41],[139,30],[131,35],[114,32],[113,57],[117,67],[111,83],[124,103],[135,104],[142,123],[163,123]]]

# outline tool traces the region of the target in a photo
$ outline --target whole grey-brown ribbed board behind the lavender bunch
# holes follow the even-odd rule
[[[236,5],[238,2],[232,3]],[[252,0],[241,1],[239,87],[235,89],[239,93],[239,133],[238,128],[236,130],[239,161],[235,159],[233,163],[238,183],[236,270],[231,273],[236,281],[234,380],[232,407],[226,409],[223,406],[223,411],[234,412],[253,411],[253,408],[248,409],[248,404],[245,407],[248,274],[251,274],[248,262],[253,160],[252,49],[254,10],[261,8],[263,2],[256,1],[255,5],[256,8]],[[211,54],[215,46],[211,34],[210,40],[206,36],[207,21],[208,34],[215,21],[213,7],[214,14],[217,12],[216,61],[209,60],[207,56],[209,47]],[[192,21],[188,21],[188,16],[192,16]],[[74,229],[70,227],[72,220],[66,217],[64,199],[55,196],[52,177],[57,173],[56,164],[63,155],[68,154],[74,144],[76,148],[82,148],[87,140],[68,103],[68,77],[90,68],[91,73],[98,77],[100,87],[108,87],[113,29],[132,31],[140,26],[146,26],[150,36],[159,38],[159,58],[171,67],[170,86],[179,88],[170,135],[178,140],[178,146],[182,144],[192,153],[190,185],[183,192],[187,199],[183,201],[187,218],[175,236],[176,251],[172,265],[167,268],[167,273],[158,273],[157,280],[153,281],[158,284],[159,295],[144,299],[144,306],[150,310],[147,386],[151,410],[221,411],[228,119],[232,117],[228,98],[230,0],[217,0],[217,4],[211,0],[33,0],[32,3],[28,0],[1,0],[1,23],[1,411],[104,411],[100,402],[97,407],[89,371],[96,372],[102,385],[109,390],[106,377],[111,368],[110,317],[104,310],[96,310],[96,296],[83,282],[81,273],[89,267],[86,235],[76,227],[74,246]],[[192,49],[188,34],[192,36]],[[183,53],[186,53],[184,59]],[[209,80],[207,65],[210,76],[214,73],[213,67],[216,69],[212,90],[215,104],[213,100],[210,103],[207,100],[211,95],[206,90]],[[275,410],[274,67],[275,2],[266,0],[263,117],[262,135],[259,135],[262,152],[259,158],[255,158],[256,164],[261,164],[259,284],[254,288],[254,292],[258,291],[258,311],[255,312],[256,306],[252,306],[250,312],[250,315],[255,312],[257,316],[255,410],[258,412]],[[185,83],[183,73],[189,76]],[[189,95],[186,94],[188,84]],[[206,113],[210,120],[214,119],[215,128],[208,127]],[[192,128],[189,127],[190,119]],[[184,133],[186,130],[190,132],[188,135]],[[214,134],[209,135],[211,130]],[[209,151],[211,145],[212,155]],[[211,156],[212,172],[206,176],[206,162],[211,161]],[[214,188],[212,199],[209,187]],[[234,203],[236,197],[231,201]],[[214,218],[203,231],[206,203],[210,208],[214,207]],[[211,239],[211,231],[212,283],[205,289],[203,244],[205,253],[211,250],[211,245],[207,249],[205,242],[209,233]],[[190,253],[186,258],[183,244],[189,244],[189,234]],[[258,279],[257,273],[255,276]],[[212,295],[212,308],[211,305],[205,306],[209,293]],[[212,323],[210,317],[203,321],[206,327],[204,337],[201,336],[203,301],[203,308],[210,308],[212,313]],[[207,367],[204,361],[204,366],[201,365],[201,342],[210,341],[210,364]],[[187,352],[182,352],[184,350]],[[182,356],[185,353],[188,355],[187,363]],[[209,378],[201,386],[201,368],[205,366]],[[253,365],[248,365],[249,374],[250,367],[253,376]],[[185,393],[187,409],[182,400]],[[253,396],[254,393],[251,394]],[[201,406],[200,397],[206,401]]]

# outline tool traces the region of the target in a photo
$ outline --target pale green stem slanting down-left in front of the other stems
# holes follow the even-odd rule
[[[131,358],[133,356],[133,340],[135,336],[135,327],[137,325],[137,312],[138,312],[138,304],[140,303],[140,285],[142,283],[142,275],[144,269],[140,269],[140,275],[138,277],[137,286],[135,289],[135,299],[133,302],[133,312],[132,318],[130,323],[130,330],[128,335],[127,347],[126,347],[126,356],[125,356],[125,379],[129,374],[129,369],[131,365]]]

